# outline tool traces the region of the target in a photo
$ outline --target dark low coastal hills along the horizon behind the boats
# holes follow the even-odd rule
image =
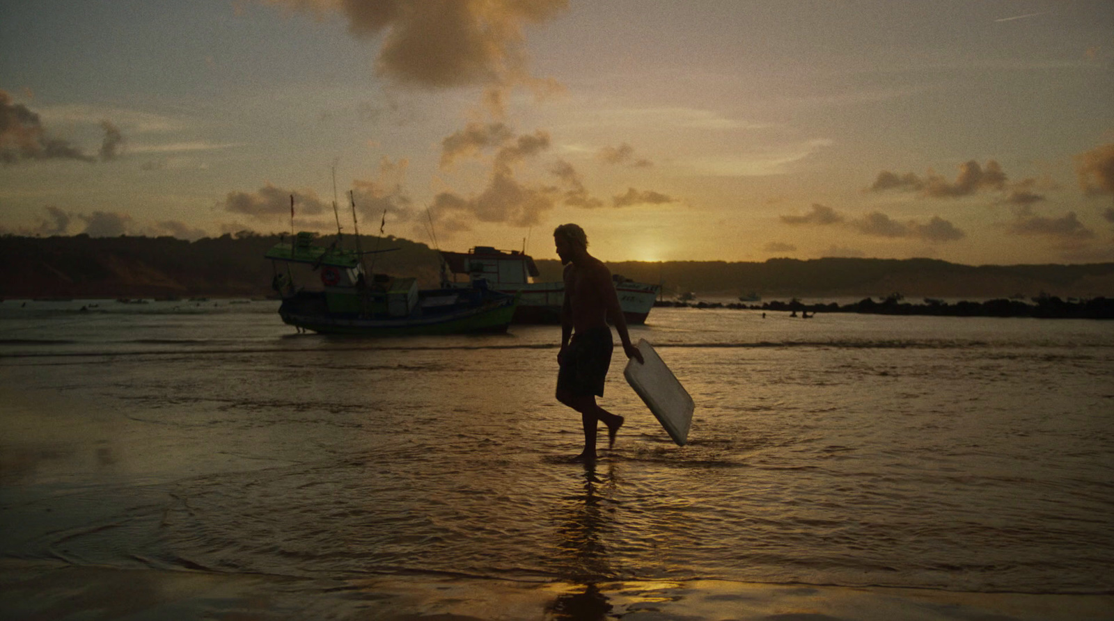
[[[280,235],[243,231],[186,241],[173,237],[0,237],[0,298],[263,297],[274,268],[263,257]],[[321,243],[329,244],[332,237]],[[351,236],[345,247],[354,247]],[[402,238],[362,238],[374,270],[438,282],[437,252]],[[465,248],[452,248],[462,250]],[[368,263],[372,260],[369,255]],[[561,266],[537,262],[544,280]],[[1087,265],[968,266],[936,259],[770,259],[753,262],[623,262],[614,274],[661,283],[666,297],[697,295],[765,299],[792,297],[994,298],[1042,293],[1064,298],[1114,297],[1114,263]]]

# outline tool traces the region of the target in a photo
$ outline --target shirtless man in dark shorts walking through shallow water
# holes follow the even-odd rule
[[[607,368],[612,363],[614,344],[608,321],[619,333],[626,356],[639,363],[643,358],[627,334],[612,273],[588,254],[588,236],[584,229],[575,224],[560,225],[554,230],[554,244],[565,266],[557,401],[580,413],[584,452],[576,459],[590,462],[596,459],[596,423],[603,421],[607,425],[607,445],[612,447],[624,421],[623,416],[596,404],[596,396],[604,396]]]

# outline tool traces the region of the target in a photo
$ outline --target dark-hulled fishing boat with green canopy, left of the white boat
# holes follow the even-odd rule
[[[419,289],[417,278],[373,275],[370,282],[360,253],[313,245],[313,234],[267,253],[275,266],[272,286],[282,295],[278,315],[301,329],[322,334],[408,336],[506,332],[518,298],[491,290],[482,282],[466,287]],[[281,270],[280,264],[286,269]],[[295,286],[292,265],[316,276]],[[320,288],[316,288],[320,286]]]

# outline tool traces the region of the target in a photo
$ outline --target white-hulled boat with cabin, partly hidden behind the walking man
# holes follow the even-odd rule
[[[565,302],[565,283],[538,283],[534,258],[518,250],[497,250],[490,246],[476,246],[467,253],[441,252],[441,257],[456,276],[465,275],[475,280],[487,280],[488,286],[505,294],[518,294],[515,323],[559,324]],[[619,306],[627,324],[644,324],[654,307],[659,285],[635,283],[623,276],[612,277]]]

